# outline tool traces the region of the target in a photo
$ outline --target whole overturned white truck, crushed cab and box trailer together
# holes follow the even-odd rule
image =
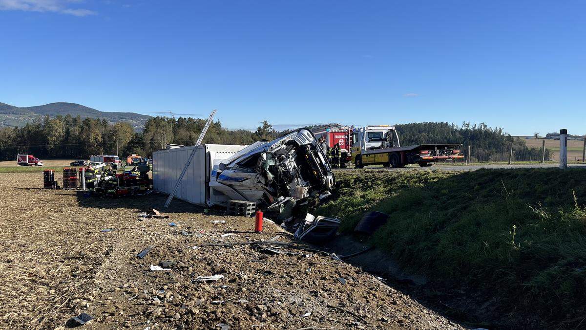
[[[171,192],[192,148],[155,151],[156,191]],[[325,154],[306,129],[250,146],[205,144],[198,148],[176,193],[194,204],[247,200],[267,206],[283,198],[301,201],[328,191],[334,184]]]

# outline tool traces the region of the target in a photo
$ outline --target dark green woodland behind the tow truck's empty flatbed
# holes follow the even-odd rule
[[[502,128],[488,127],[485,123],[462,123],[462,126],[449,123],[410,123],[395,126],[401,145],[425,143],[462,143],[462,151],[471,146],[471,161],[505,161],[509,159],[510,144],[513,143],[513,156],[517,161],[541,160],[542,148],[529,148],[524,140],[512,137]],[[551,159],[551,151],[546,149],[546,160]]]

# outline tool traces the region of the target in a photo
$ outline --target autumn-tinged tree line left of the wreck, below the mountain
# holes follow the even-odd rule
[[[40,159],[88,159],[91,155],[128,154],[152,156],[168,143],[195,144],[205,126],[205,119],[154,117],[148,119],[141,132],[129,123],[109,123],[104,119],[81,119],[49,116],[22,127],[0,129],[0,160],[16,160],[16,154],[33,154]],[[219,120],[213,122],[204,143],[251,144],[261,139],[273,139],[276,132],[264,121],[256,132],[229,130]]]

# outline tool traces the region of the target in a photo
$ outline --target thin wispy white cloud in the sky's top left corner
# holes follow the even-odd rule
[[[74,16],[94,15],[96,12],[83,8],[70,8],[79,0],[0,0],[0,11],[58,12]]]

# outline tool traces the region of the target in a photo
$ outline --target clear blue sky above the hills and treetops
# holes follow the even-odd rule
[[[586,1],[0,0],[0,102],[586,133]]]

